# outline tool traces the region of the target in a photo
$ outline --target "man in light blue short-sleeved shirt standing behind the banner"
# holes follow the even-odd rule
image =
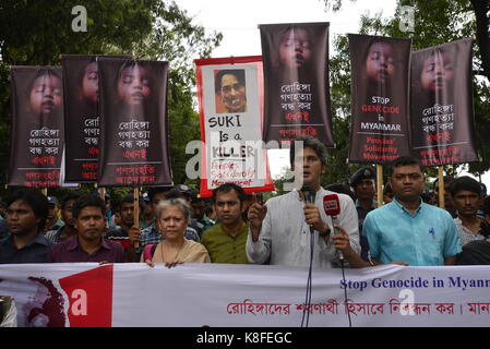
[[[392,203],[368,214],[363,233],[374,264],[454,265],[462,246],[451,215],[420,198],[423,168],[414,157],[393,161]]]

